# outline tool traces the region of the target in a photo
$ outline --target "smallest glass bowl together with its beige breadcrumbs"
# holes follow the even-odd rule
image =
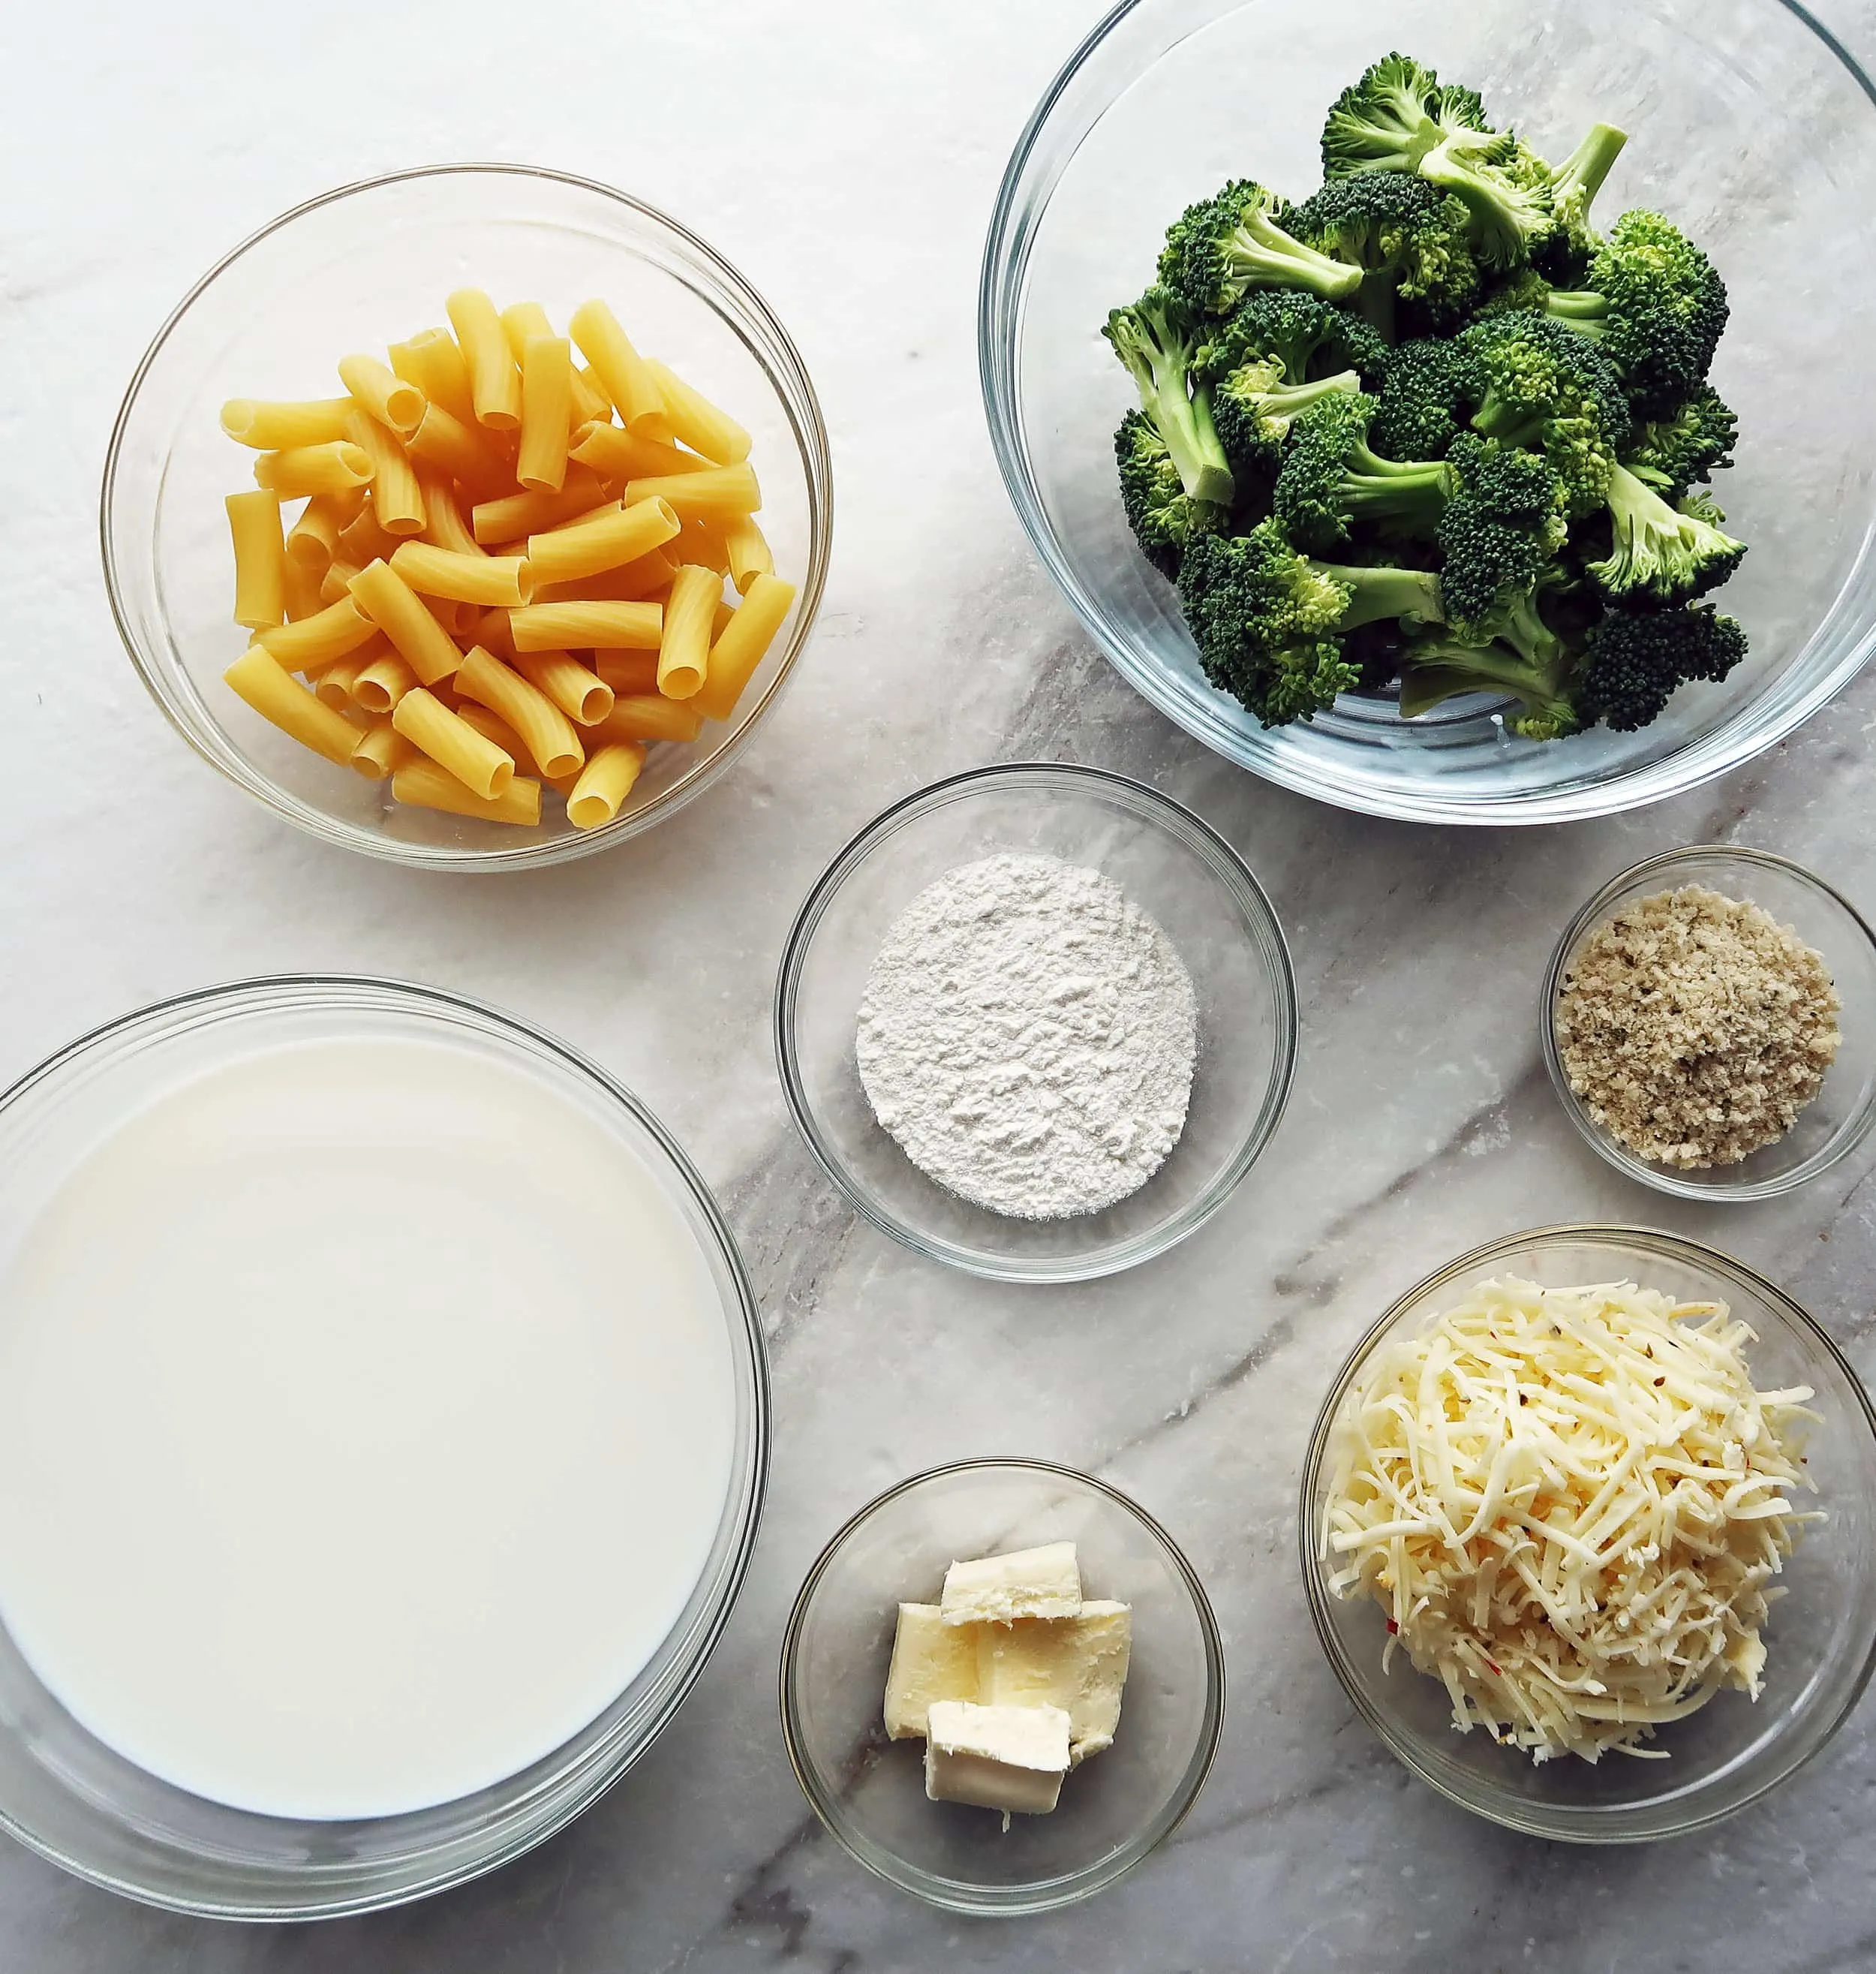
[[[1543,1048],[1570,1119],[1631,1178],[1789,1192],[1876,1123],[1876,936],[1785,857],[1651,857],[1558,942]]]

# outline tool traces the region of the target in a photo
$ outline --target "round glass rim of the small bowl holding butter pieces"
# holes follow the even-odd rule
[[[900,1861],[896,1854],[888,1852],[884,1846],[868,1846],[854,1826],[842,1816],[836,1806],[836,1798],[821,1786],[817,1767],[807,1753],[807,1735],[801,1729],[795,1708],[795,1670],[801,1660],[801,1634],[807,1627],[807,1615],[813,1607],[815,1593],[821,1589],[823,1577],[832,1567],[834,1557],[846,1542],[860,1528],[864,1528],[864,1524],[870,1522],[880,1508],[890,1506],[902,1494],[909,1494],[933,1480],[949,1480],[955,1475],[974,1471],[1026,1473],[1046,1475],[1053,1480],[1073,1480],[1077,1486],[1093,1488],[1097,1494],[1105,1494],[1118,1508],[1124,1508],[1172,1559],[1174,1573],[1186,1585],[1191,1599],[1191,1611],[1197,1617],[1199,1634],[1205,1646],[1205,1715],[1199,1727],[1197,1747],[1186,1767],[1184,1781],[1168,1802],[1168,1810],[1128,1844],[1111,1852],[1085,1871],[1077,1871],[1069,1877],[1042,1879],[1028,1893],[1016,1891],[1014,1897],[988,1899],[980,1889],[969,1887],[965,1879],[935,1877],[929,1871],[917,1871],[913,1867],[905,1867],[903,1873],[890,1869],[892,1863]],[[1113,1482],[1103,1480],[1099,1475],[1085,1473],[1079,1467],[1067,1467],[1059,1461],[1026,1459],[1024,1455],[978,1455],[973,1459],[943,1461],[937,1467],[925,1467],[915,1475],[907,1475],[903,1480],[896,1480],[890,1488],[884,1488],[864,1506],[856,1508],[823,1544],[821,1554],[801,1579],[801,1589],[795,1593],[795,1603],[789,1609],[789,1621],[781,1634],[781,1656],[777,1664],[781,1741],[787,1749],[789,1767],[795,1771],[795,1783],[801,1786],[801,1794],[807,1796],[809,1808],[815,1812],[821,1826],[856,1863],[862,1863],[868,1871],[872,1871],[874,1877],[884,1879],[888,1885],[896,1885],[900,1891],[909,1891],[913,1897],[923,1899],[927,1905],[935,1905],[947,1913],[967,1913],[980,1919],[1022,1919],[1032,1913],[1053,1913],[1065,1905],[1077,1905],[1081,1899],[1103,1891],[1150,1858],[1166,1842],[1166,1838],[1170,1838],[1174,1830],[1186,1822],[1191,1814],[1191,1806],[1205,1788],[1217,1761],[1219,1739],[1225,1729],[1225,1642],[1219,1632],[1217,1615],[1211,1609],[1211,1599],[1205,1595],[1205,1585],[1199,1579],[1199,1573],[1191,1567],[1186,1552],[1178,1546],[1178,1542],[1174,1542],[1166,1528],[1130,1494],[1122,1492]]]

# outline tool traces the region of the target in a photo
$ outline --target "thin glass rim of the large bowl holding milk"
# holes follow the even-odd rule
[[[748,1581],[750,1563],[754,1559],[761,1528],[761,1512],[767,1500],[769,1459],[773,1447],[773,1394],[767,1340],[761,1329],[761,1305],[750,1283],[748,1265],[744,1263],[742,1250],[738,1248],[730,1222],[724,1218],[722,1208],[716,1204],[714,1194],[698,1169],[692,1165],[690,1157],[685,1153],[683,1145],[679,1145],[665,1123],[641,1098],[627,1090],[625,1084],[612,1076],[592,1056],[574,1048],[570,1042],[564,1042],[550,1030],[537,1026],[525,1017],[511,1013],[509,1009],[497,1007],[489,1001],[479,1001],[471,995],[454,993],[446,987],[430,987],[420,981],[398,979],[397,975],[337,971],[241,975],[209,987],[191,987],[181,993],[164,995],[156,1001],[130,1009],[124,1015],[116,1015],[110,1021],[97,1023],[93,1028],[87,1028],[83,1034],[65,1042],[61,1048],[53,1050],[41,1062],[34,1064],[0,1090],[0,1119],[6,1117],[20,1098],[37,1090],[41,1084],[47,1084],[61,1072],[85,1062],[101,1044],[134,1032],[150,1021],[172,1015],[187,1015],[195,1009],[211,1009],[217,1005],[229,1005],[231,1013],[239,1015],[245,1009],[264,1005],[264,997],[270,995],[333,991],[339,995],[365,997],[367,1003],[389,1001],[391,1005],[414,1007],[418,1013],[434,1015],[436,1011],[454,1011],[456,1015],[471,1017],[477,1025],[491,1026],[505,1038],[519,1038],[523,1044],[544,1052],[562,1068],[570,1070],[576,1080],[586,1080],[598,1086],[606,1098],[617,1103],[631,1117],[631,1121],[645,1131],[657,1151],[669,1161],[683,1190],[702,1216],[702,1224],[708,1228],[734,1289],[734,1309],[728,1303],[724,1305],[724,1327],[734,1336],[736,1323],[740,1319],[742,1338],[748,1350],[746,1368],[738,1366],[734,1376],[738,1384],[748,1380],[750,1396],[754,1400],[750,1405],[750,1445],[746,1459],[738,1463],[738,1467],[732,1467],[730,1492],[726,1496],[726,1504],[734,1508],[736,1516],[736,1540],[726,1556],[722,1587],[714,1607],[708,1611],[706,1621],[698,1629],[696,1646],[688,1664],[677,1672],[659,1706],[645,1715],[643,1727],[631,1741],[629,1749],[621,1749],[617,1745],[604,1753],[602,1747],[588,1749],[578,1761],[568,1763],[562,1771],[558,1771],[558,1777],[544,1777],[537,1781],[525,1794],[517,1796],[505,1812],[491,1812],[515,1818],[527,1802],[537,1804],[531,1818],[521,1820],[519,1828],[505,1830],[501,1840],[487,1846],[483,1852],[475,1850],[473,1836],[466,1838],[464,1834],[454,1834],[436,1838],[428,1846],[418,1844],[410,1850],[395,1854],[393,1865],[398,1875],[395,1883],[385,1887],[363,1891],[343,1889],[339,1893],[318,1895],[322,1875],[325,1873],[316,1867],[306,1875],[306,1885],[310,1893],[316,1895],[304,1901],[288,1903],[272,1897],[262,1903],[243,1905],[225,1897],[191,1899],[174,1889],[144,1883],[120,1869],[110,1869],[85,1858],[77,1858],[59,1844],[49,1842],[30,1826],[22,1824],[4,1804],[0,1804],[0,1830],[24,1844],[36,1856],[45,1858],[49,1863],[59,1865],[63,1871],[69,1871],[85,1883],[118,1893],[138,1905],[170,1913],[185,1913],[195,1919],[294,1923],[389,1911],[398,1905],[410,1905],[416,1899],[426,1899],[438,1891],[464,1885],[469,1879],[483,1877],[501,1865],[513,1863],[539,1844],[544,1844],[550,1836],[556,1836],[576,1816],[582,1816],[588,1808],[592,1808],[592,1804],[598,1802],[600,1796],[604,1796],[606,1790],[612,1788],[612,1784],[639,1761],[659,1735],[665,1733],[679,1708],[690,1696],[698,1678],[702,1678],[704,1668],[730,1627],[730,1619],[736,1613],[736,1605]],[[497,1783],[493,1786],[501,1784]],[[556,1786],[560,1790],[558,1800],[554,1798]],[[253,1812],[231,1810],[231,1814],[245,1816]],[[114,1810],[110,1810],[108,1820],[116,1822]],[[367,1818],[365,1822],[371,1824],[381,1820],[383,1818]],[[420,1860],[424,1850],[434,1852],[438,1863],[432,1869],[412,1869],[412,1860]],[[221,1860],[221,1863],[227,1867],[227,1860]],[[278,1867],[278,1871],[280,1877],[292,1877],[292,1867]],[[339,1879],[339,1883],[343,1885],[347,1881]]]

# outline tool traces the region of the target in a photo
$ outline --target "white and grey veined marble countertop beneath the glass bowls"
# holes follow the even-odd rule
[[[1168,726],[1030,557],[976,391],[996,178],[1097,12],[65,0],[0,28],[0,1080],[243,973],[481,995],[596,1054],[686,1143],[744,1242],[775,1376],[734,1625],[671,1731],[568,1832],[454,1895],[282,1931],[150,1913],[0,1842],[0,1974],[1876,1964],[1876,1702],[1775,1798],[1671,1852],[1517,1840],[1414,1784],[1353,1717],[1292,1554],[1304,1437],[1345,1348],[1395,1291],[1509,1228],[1639,1218],[1718,1240],[1876,1374],[1868,1153],[1775,1206],[1639,1192],[1578,1143],[1533,1032],[1562,916],[1649,851],[1779,849],[1876,908],[1854,780],[1876,677],[1696,796],[1527,833],[1341,815]],[[1868,0],[1833,12],[1876,45]],[[629,87],[653,57],[659,83]],[[525,878],[369,865],[223,786],[136,687],[95,547],[116,397],[187,282],[316,190],[462,156],[629,186],[710,237],[797,336],[836,462],[821,630],[742,766],[651,837]],[[832,849],[937,774],[1026,756],[1140,776],[1229,835],[1284,918],[1304,1011],[1274,1153],[1174,1255],[1079,1291],[965,1281],[856,1226],[789,1127],[767,1040],[783,930]],[[984,1360],[1004,1376],[969,1380]],[[1193,1816],[1132,1879],[1051,1919],[959,1923],[819,1832],[781,1751],[775,1654],[854,1506],[1002,1451],[1095,1469],[1170,1524],[1217,1605],[1231,1708]]]

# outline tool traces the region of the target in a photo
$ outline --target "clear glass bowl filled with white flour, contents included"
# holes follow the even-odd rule
[[[1004,1281],[1201,1226],[1296,1060],[1282,928],[1213,829],[1099,768],[955,776],[860,831],[775,985],[781,1084],[858,1212]]]

